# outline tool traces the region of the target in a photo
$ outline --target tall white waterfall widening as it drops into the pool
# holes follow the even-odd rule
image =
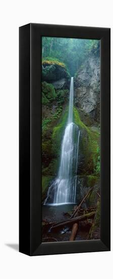
[[[50,185],[44,204],[56,205],[76,201],[80,131],[78,126],[73,123],[73,87],[73,78],[71,78],[68,123],[62,141],[58,177]]]

